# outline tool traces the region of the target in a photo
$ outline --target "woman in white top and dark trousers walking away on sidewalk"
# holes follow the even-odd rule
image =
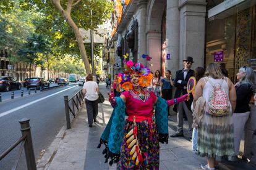
[[[93,75],[88,74],[86,82],[83,84],[83,94],[85,94],[85,105],[87,109],[89,127],[92,127],[93,120],[96,122],[96,116],[98,115],[98,98],[99,98],[99,86],[93,81]]]

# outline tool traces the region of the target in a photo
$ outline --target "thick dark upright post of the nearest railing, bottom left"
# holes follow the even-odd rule
[[[22,118],[19,121],[19,123],[20,123],[20,131],[22,132],[22,136],[27,136],[24,144],[27,168],[28,170],[34,170],[36,169],[36,163],[35,163],[33,142],[32,142],[31,131],[30,131],[31,127],[30,127],[29,121],[30,119],[28,118]]]

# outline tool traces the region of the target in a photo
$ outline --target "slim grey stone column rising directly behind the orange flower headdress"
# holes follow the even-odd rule
[[[138,15],[138,26],[139,26],[139,48],[138,48],[138,61],[147,65],[147,61],[142,59],[142,54],[147,54],[147,37],[146,37],[146,19],[147,19],[147,1],[139,1],[139,15]]]

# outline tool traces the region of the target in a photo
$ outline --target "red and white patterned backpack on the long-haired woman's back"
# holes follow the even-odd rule
[[[224,80],[220,83],[213,84],[210,79],[209,83],[213,87],[210,92],[210,98],[208,101],[208,113],[213,116],[225,116],[229,114],[229,97],[224,91],[222,84]]]

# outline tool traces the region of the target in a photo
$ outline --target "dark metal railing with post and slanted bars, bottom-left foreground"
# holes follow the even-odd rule
[[[20,131],[22,132],[22,137],[20,139],[16,140],[14,144],[12,144],[7,150],[5,150],[0,155],[0,161],[2,158],[4,158],[6,155],[8,155],[17,145],[20,144],[20,148],[17,154],[17,160],[15,160],[15,164],[12,169],[16,169],[17,165],[20,160],[20,156],[22,154],[23,148],[25,150],[25,157],[27,162],[27,168],[28,170],[35,170],[36,169],[36,162],[35,162],[35,155],[33,150],[33,142],[31,137],[31,131],[30,131],[30,119],[23,118],[19,121],[20,123]]]

